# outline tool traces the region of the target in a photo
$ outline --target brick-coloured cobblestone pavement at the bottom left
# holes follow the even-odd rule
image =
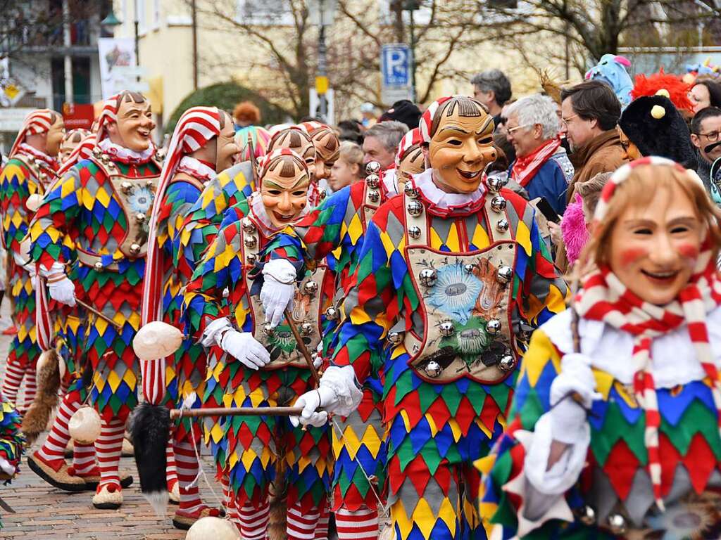
[[[4,302],[4,307],[7,303]],[[4,309],[0,320],[7,320],[7,317],[7,310]],[[0,374],[5,371],[9,343],[8,336],[0,336]],[[44,440],[44,436],[41,436],[41,439]],[[32,450],[35,450],[35,447]],[[143,499],[133,458],[121,459],[120,469],[132,472],[135,480],[131,487],[123,490],[125,501],[122,508],[96,510],[91,503],[92,492],[68,493],[58,490],[40,480],[23,460],[21,472],[12,484],[0,485],[0,498],[16,512],[13,514],[0,510],[3,523],[0,539],[185,539],[185,531],[178,531],[170,520],[175,506],[169,505],[169,517],[158,518]],[[209,475],[208,481],[213,490],[221,496],[220,484],[212,478],[213,466],[208,456],[203,458],[203,469]],[[202,479],[200,490],[203,500],[212,504],[215,498]]]

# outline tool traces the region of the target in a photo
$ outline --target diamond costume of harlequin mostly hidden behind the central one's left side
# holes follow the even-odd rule
[[[384,184],[376,174],[364,182],[351,184],[324,199],[296,225],[275,235],[267,248],[267,258],[286,258],[303,261],[315,268],[324,259],[335,271],[333,310],[337,313],[348,292],[349,276],[358,264],[358,252],[373,213],[386,199]],[[337,315],[327,317],[324,339],[324,358],[331,353],[330,343],[335,336]],[[333,430],[335,456],[332,510],[341,506],[350,511],[362,507],[376,508],[383,498],[386,478],[386,442],[382,422],[383,384],[381,358],[371,362],[371,376],[363,384],[363,401],[348,416],[335,421],[340,433]],[[375,477],[373,487],[367,477]]]

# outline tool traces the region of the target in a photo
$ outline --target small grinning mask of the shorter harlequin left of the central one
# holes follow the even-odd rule
[[[310,179],[297,156],[278,156],[262,171],[260,196],[265,213],[281,229],[300,217],[308,204]]]

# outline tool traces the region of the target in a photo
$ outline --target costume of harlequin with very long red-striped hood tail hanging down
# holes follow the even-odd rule
[[[170,141],[164,161],[158,191],[150,222],[149,254],[143,288],[143,325],[152,320],[164,320],[177,325],[182,320],[181,289],[190,280],[189,269],[194,261],[177,265],[177,233],[183,216],[198,201],[204,183],[216,175],[220,163],[221,129],[232,129],[232,120],[216,107],[191,107],[182,114]],[[216,145],[214,163],[206,163],[191,156],[211,141]],[[234,146],[237,149],[237,147]],[[179,271],[180,270],[180,271]],[[200,343],[187,339],[174,357],[149,362],[143,369],[143,395],[146,402],[170,407],[200,406],[205,389],[205,354]],[[149,429],[136,420],[133,431]],[[218,516],[218,510],[208,508],[200,500],[197,486],[199,450],[202,427],[191,418],[182,418],[172,430],[172,445],[177,460],[180,482],[180,506],[173,523],[178,528],[190,528],[199,518]],[[162,451],[162,449],[161,449]],[[161,456],[162,457],[162,456]],[[156,467],[157,464],[150,464]],[[138,467],[138,470],[141,470]],[[157,474],[156,474],[157,475]],[[159,489],[165,491],[164,475],[159,478]],[[143,486],[143,492],[147,489]]]

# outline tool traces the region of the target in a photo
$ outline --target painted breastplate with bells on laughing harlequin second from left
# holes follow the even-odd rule
[[[99,150],[99,148],[95,150]],[[94,151],[92,160],[107,176],[112,191],[115,192],[115,197],[125,214],[125,222],[128,224],[125,236],[118,244],[118,250],[131,259],[146,256],[150,216],[160,172],[154,176],[133,178],[125,176],[107,154]],[[158,165],[158,171],[160,169],[161,166]]]

